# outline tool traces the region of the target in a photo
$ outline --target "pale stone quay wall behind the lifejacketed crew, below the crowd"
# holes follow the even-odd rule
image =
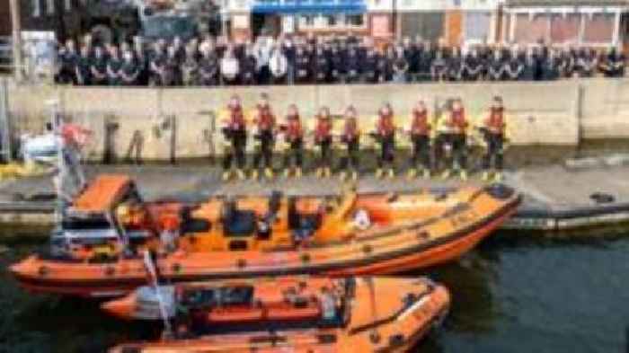
[[[139,146],[145,159],[168,159],[173,151],[178,158],[220,152],[217,117],[229,97],[238,93],[251,109],[261,92],[270,94],[280,117],[288,104],[297,103],[310,125],[317,107],[341,113],[353,104],[363,130],[372,127],[384,101],[392,103],[398,123],[404,124],[419,97],[432,110],[461,97],[468,115],[481,119],[492,96],[500,94],[514,145],[576,146],[581,138],[629,137],[629,80],[172,89],[10,84],[9,104],[15,136],[40,132],[49,119],[46,102],[57,100],[69,119],[94,131],[87,147],[93,158],[102,157],[109,144],[118,157],[134,154],[131,147]]]

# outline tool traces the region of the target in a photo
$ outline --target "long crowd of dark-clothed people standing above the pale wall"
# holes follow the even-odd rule
[[[99,43],[66,40],[58,50],[59,84],[217,86],[380,84],[425,81],[548,81],[625,75],[616,48],[474,45],[447,47],[403,38],[295,36],[254,42],[226,38]]]

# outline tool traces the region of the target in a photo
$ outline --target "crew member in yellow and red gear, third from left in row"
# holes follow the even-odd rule
[[[304,129],[301,126],[297,105],[288,106],[286,126],[282,129],[284,130],[284,141],[288,145],[288,150],[284,155],[284,177],[290,177],[292,164],[293,175],[296,178],[301,178],[301,168],[304,161]]]

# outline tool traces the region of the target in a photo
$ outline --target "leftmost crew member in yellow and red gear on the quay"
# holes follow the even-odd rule
[[[223,159],[223,181],[228,181],[232,175],[232,164],[235,160],[236,174],[240,180],[246,179],[244,174],[244,148],[247,144],[246,123],[240,97],[233,95],[227,106],[228,117],[223,126],[223,134],[229,141]]]

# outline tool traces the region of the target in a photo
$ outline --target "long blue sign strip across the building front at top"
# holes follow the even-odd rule
[[[364,0],[257,0],[252,13],[365,13]]]

